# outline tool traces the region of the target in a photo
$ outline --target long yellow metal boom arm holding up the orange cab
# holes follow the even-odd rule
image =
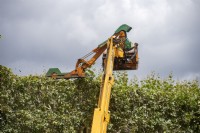
[[[106,133],[107,125],[110,121],[109,103],[111,88],[114,84],[113,64],[115,58],[115,46],[113,46],[113,37],[107,42],[107,59],[104,75],[102,76],[102,85],[100,88],[98,107],[94,110],[92,133]]]

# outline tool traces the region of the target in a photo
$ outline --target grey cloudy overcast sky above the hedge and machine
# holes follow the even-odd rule
[[[0,0],[0,64],[19,75],[67,72],[121,24],[139,43],[129,77],[200,79],[200,0]]]

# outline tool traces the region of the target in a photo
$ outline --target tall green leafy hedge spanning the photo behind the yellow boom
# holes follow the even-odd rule
[[[97,106],[100,75],[52,80],[16,76],[0,66],[0,132],[75,133],[91,126]],[[108,132],[200,132],[200,87],[152,73],[128,81],[115,73]]]

